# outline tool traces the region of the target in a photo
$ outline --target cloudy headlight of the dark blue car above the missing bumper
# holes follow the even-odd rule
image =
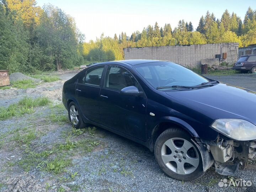
[[[256,139],[256,126],[244,119],[216,119],[210,127],[234,140]]]

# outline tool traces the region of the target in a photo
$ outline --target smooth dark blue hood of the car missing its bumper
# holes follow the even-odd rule
[[[169,90],[166,94],[212,119],[241,118],[256,124],[255,91],[219,83],[202,89]]]

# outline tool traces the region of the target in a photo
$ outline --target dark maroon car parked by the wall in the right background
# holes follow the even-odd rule
[[[238,61],[234,64],[235,70],[256,73],[256,54],[242,55]]]

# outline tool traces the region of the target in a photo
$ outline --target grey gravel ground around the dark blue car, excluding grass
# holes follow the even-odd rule
[[[61,98],[58,95],[61,95],[63,80],[71,78],[76,73],[64,71],[59,74],[62,80],[43,83],[34,89],[0,90],[1,103],[5,103],[7,106],[24,96],[48,96],[54,103],[61,103]],[[208,75],[207,77],[256,90],[254,84],[256,75],[253,74]],[[177,181],[166,176],[160,170],[154,159],[154,154],[149,149],[101,128],[97,128],[95,133],[90,134],[86,129],[84,134],[74,138],[76,141],[93,139],[100,144],[85,154],[81,152],[82,148],[71,151],[68,157],[72,160],[72,165],[67,167],[68,171],[54,175],[32,166],[30,171],[25,172],[18,162],[20,159],[27,158],[25,154],[27,146],[16,146],[16,142],[10,140],[8,136],[4,137],[4,134],[9,132],[12,134],[16,130],[26,127],[34,128],[35,132],[40,134],[32,141],[30,148],[39,153],[52,149],[58,143],[64,143],[71,130],[69,123],[51,122],[49,115],[52,114],[52,109],[49,106],[34,110],[36,112],[33,114],[0,121],[0,144],[1,142],[7,143],[2,147],[0,145],[0,191],[58,191],[60,187],[66,191],[256,191],[255,164],[249,164],[245,170],[239,170],[238,175],[234,178],[251,181],[251,187],[219,187],[218,183],[221,180],[224,178],[230,180],[230,177],[217,174],[213,167],[197,181]],[[63,109],[59,115],[66,113],[66,110]],[[57,152],[57,154],[59,153],[60,151]],[[10,166],[10,163],[14,163],[14,165]],[[73,179],[65,180],[70,177],[70,172],[78,174]],[[1,184],[3,184],[2,187]]]

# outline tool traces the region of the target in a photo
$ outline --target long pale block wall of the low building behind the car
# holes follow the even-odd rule
[[[190,68],[200,68],[201,59],[215,58],[216,54],[227,53],[221,60],[235,63],[238,58],[238,43],[214,43],[186,46],[160,46],[124,48],[125,59],[168,60]]]

